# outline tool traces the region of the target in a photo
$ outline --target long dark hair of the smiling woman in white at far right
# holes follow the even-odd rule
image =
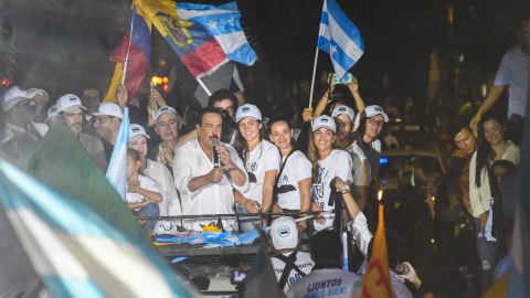
[[[475,168],[475,185],[477,185],[477,188],[480,188],[481,184],[480,172],[484,168],[489,171],[490,164],[497,157],[497,153],[495,153],[495,150],[491,148],[491,143],[489,143],[484,135],[484,124],[489,120],[496,120],[501,126],[501,129],[505,128],[504,119],[497,113],[492,111],[484,114],[478,123],[477,167]]]

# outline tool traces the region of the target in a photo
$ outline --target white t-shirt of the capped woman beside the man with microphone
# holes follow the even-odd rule
[[[259,145],[254,148],[246,160],[245,170],[248,174],[248,182],[251,187],[248,191],[243,193],[243,196],[262,203],[263,200],[263,182],[265,180],[265,172],[271,170],[279,170],[279,149],[267,140],[262,140]]]

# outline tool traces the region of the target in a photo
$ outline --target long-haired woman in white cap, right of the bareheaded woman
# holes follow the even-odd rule
[[[352,162],[350,155],[340,149],[340,141],[336,135],[333,118],[319,116],[312,124],[312,134],[309,138],[307,156],[312,163],[312,190],[311,199],[319,210],[329,211],[335,209],[335,202],[330,202],[330,182],[336,178],[344,181],[340,192],[350,190]],[[332,226],[335,215],[326,214],[326,222],[315,222],[315,230],[321,231]]]

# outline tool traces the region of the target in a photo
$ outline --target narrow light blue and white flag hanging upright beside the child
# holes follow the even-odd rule
[[[107,180],[125,201],[127,192],[127,148],[129,146],[129,109],[125,108],[118,137],[107,169]]]

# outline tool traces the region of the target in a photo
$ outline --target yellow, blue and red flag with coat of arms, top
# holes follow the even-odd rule
[[[229,62],[218,41],[200,24],[177,15],[170,0],[137,0],[149,22],[158,29],[194,77],[203,77]]]

